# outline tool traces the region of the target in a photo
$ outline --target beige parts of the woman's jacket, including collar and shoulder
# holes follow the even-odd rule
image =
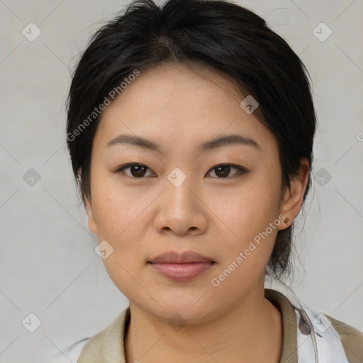
[[[266,298],[282,315],[283,345],[280,363],[297,363],[297,323],[294,308],[286,296],[279,291],[264,289]],[[337,331],[350,363],[363,363],[363,333],[350,325],[325,315]],[[130,319],[130,308],[125,308],[116,320],[84,345],[77,363],[125,363],[123,337]],[[332,362],[334,363],[334,362]]]

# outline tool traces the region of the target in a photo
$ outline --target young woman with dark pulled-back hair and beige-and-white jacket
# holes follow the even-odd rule
[[[362,362],[359,330],[264,289],[289,274],[311,186],[307,74],[227,1],[136,1],[93,36],[67,143],[130,306],[77,362]]]

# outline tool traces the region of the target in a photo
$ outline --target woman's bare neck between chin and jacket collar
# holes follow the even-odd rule
[[[278,363],[281,357],[281,314],[264,298],[263,290],[252,292],[218,318],[180,330],[133,303],[130,314],[126,363]]]

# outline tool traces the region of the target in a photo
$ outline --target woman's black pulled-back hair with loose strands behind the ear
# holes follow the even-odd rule
[[[220,0],[168,0],[162,6],[133,1],[91,37],[67,100],[67,146],[82,201],[91,199],[91,146],[99,124],[95,109],[99,112],[110,92],[135,70],[142,73],[163,62],[212,67],[258,102],[254,114],[279,145],[281,206],[301,158],[310,166],[313,162],[316,118],[308,71],[264,19]],[[293,228],[294,223],[278,231],[267,266],[267,273],[280,281],[291,270]]]

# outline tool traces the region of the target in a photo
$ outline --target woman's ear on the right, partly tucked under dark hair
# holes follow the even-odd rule
[[[289,218],[289,223],[285,224],[282,220],[278,230],[284,230],[288,228],[293,222],[294,218],[300,211],[301,204],[303,203],[303,195],[306,190],[306,184],[308,183],[310,165],[306,157],[301,159],[300,167],[298,170],[298,176],[290,179],[290,188],[286,190],[284,203],[281,206],[280,213]]]

